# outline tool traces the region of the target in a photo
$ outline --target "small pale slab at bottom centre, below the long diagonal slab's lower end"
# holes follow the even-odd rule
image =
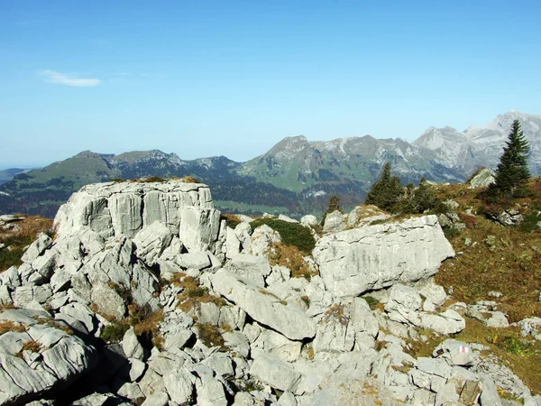
[[[252,376],[280,391],[295,392],[301,374],[293,366],[261,350],[254,350],[252,358]]]

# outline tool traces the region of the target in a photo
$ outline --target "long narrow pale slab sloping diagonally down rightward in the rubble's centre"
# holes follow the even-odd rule
[[[254,320],[292,340],[316,335],[316,324],[298,307],[224,269],[211,277],[214,291],[233,301]]]

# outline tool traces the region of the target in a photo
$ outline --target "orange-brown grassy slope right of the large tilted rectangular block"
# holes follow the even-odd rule
[[[459,301],[498,301],[509,321],[541,315],[541,232],[526,234],[481,216],[466,226],[451,240],[454,250],[463,254],[442,264],[436,282],[446,289],[453,286]],[[487,235],[496,237],[495,245],[484,242]],[[466,247],[465,238],[477,244]],[[491,298],[489,291],[500,291],[503,297]]]

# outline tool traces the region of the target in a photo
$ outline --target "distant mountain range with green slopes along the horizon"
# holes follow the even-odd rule
[[[494,168],[515,119],[530,143],[530,170],[539,174],[541,115],[512,110],[489,125],[463,131],[430,127],[413,143],[370,135],[327,142],[288,137],[246,162],[224,156],[183,161],[175,153],[158,150],[118,155],[80,152],[40,170],[16,174],[0,185],[0,213],[53,217],[72,192],[88,183],[186,175],[208,184],[215,206],[225,211],[317,213],[326,208],[331,194],[350,208],[362,202],[387,161],[404,183],[417,183],[422,176],[458,182],[480,166]]]

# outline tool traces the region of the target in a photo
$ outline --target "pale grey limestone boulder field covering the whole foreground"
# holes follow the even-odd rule
[[[477,232],[460,202],[439,219],[336,211],[319,230],[221,216],[200,183],[87,185],[0,273],[0,404],[540,405],[498,337],[460,337],[473,322],[536,343],[541,318],[509,327],[497,301],[435,282],[481,246],[504,255],[494,235],[448,241],[445,221]]]

